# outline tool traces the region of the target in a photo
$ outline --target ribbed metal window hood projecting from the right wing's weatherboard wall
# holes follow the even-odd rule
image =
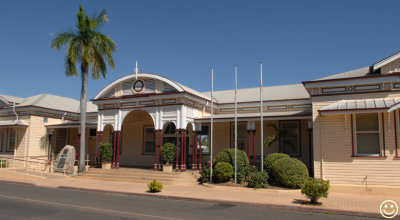
[[[321,108],[320,112],[344,112],[359,110],[389,110],[400,104],[400,98],[386,99],[358,99],[358,100],[341,100],[331,105]],[[390,111],[392,111],[391,109]]]

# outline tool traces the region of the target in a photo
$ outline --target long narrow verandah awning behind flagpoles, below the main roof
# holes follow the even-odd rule
[[[214,115],[213,120],[215,122],[233,121],[235,118],[234,114],[217,114]],[[312,119],[311,111],[275,111],[275,112],[264,112],[264,120],[297,120],[297,119]],[[238,121],[257,121],[260,120],[260,113],[238,113]],[[204,118],[194,119],[195,122],[210,122],[211,116]]]

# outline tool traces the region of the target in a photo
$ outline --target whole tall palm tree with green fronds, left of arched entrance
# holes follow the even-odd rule
[[[107,23],[106,10],[93,17],[86,15],[82,4],[76,13],[76,31],[62,32],[51,42],[51,47],[60,50],[67,47],[65,61],[65,75],[78,76],[76,66],[80,64],[82,87],[80,100],[80,128],[81,128],[81,151],[79,161],[79,172],[85,168],[85,125],[87,105],[87,83],[88,73],[91,68],[92,79],[106,77],[107,65],[114,69],[112,53],[117,50],[117,45],[107,35],[99,32],[103,24]]]

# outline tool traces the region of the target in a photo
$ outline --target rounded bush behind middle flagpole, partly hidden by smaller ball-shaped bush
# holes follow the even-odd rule
[[[215,157],[216,165],[221,162],[227,162],[235,167],[235,149],[225,148],[220,151]],[[237,150],[237,170],[241,170],[242,168],[249,165],[249,159],[247,158],[247,154],[242,150]]]

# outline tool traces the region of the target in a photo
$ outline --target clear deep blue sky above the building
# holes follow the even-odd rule
[[[74,28],[79,3],[107,9],[102,31],[118,45],[116,68],[90,80],[88,98],[115,79],[163,75],[198,91],[300,83],[369,66],[400,50],[400,1],[1,1],[0,93],[79,99],[80,77],[64,75],[55,34]]]

